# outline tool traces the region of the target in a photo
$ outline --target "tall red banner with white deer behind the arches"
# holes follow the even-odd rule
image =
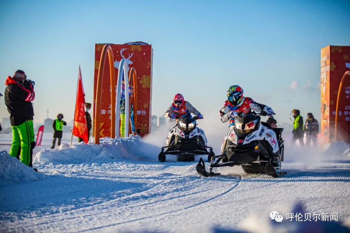
[[[105,44],[95,44],[95,75],[94,75],[94,106],[96,102],[96,86],[98,69],[102,49]],[[114,56],[115,77],[118,77],[119,63],[122,59],[126,61],[128,72],[132,67],[137,72],[137,93],[134,93],[134,85],[131,85],[130,101],[133,103],[134,95],[137,95],[137,106],[135,114],[138,116],[136,129],[140,130],[140,136],[151,133],[151,109],[152,109],[152,59],[153,49],[151,45],[128,44],[115,45],[111,44]],[[126,76],[128,77],[129,74]],[[101,123],[100,137],[111,136],[111,112],[115,109],[111,108],[111,86],[110,86],[109,64],[105,63],[104,78],[102,83],[102,100],[101,100]],[[117,82],[116,82],[117,83]],[[116,86],[115,86],[116,88]],[[119,106],[119,103],[116,103]],[[120,116],[116,116],[120,118]],[[94,112],[95,118],[95,112]],[[95,122],[94,128],[95,130]],[[118,133],[119,131],[116,131]],[[117,134],[118,135],[118,134]]]

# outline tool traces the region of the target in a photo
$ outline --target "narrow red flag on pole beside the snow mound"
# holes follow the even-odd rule
[[[75,113],[73,131],[74,136],[80,137],[85,143],[88,143],[88,124],[85,115],[85,93],[83,87],[83,78],[79,66],[77,98],[75,101]]]

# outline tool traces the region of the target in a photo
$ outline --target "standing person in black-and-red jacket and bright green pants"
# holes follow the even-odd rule
[[[32,101],[35,99],[34,82],[27,80],[23,70],[17,70],[5,81],[5,104],[10,113],[12,145],[9,154],[23,164],[32,166],[35,147]]]

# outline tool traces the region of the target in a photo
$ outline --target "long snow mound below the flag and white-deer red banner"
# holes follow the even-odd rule
[[[62,146],[62,145],[61,145]],[[157,161],[160,148],[148,144],[139,136],[129,138],[101,138],[100,144],[79,143],[71,148],[42,150],[36,154],[34,163],[70,164],[90,161],[111,162],[115,160]]]

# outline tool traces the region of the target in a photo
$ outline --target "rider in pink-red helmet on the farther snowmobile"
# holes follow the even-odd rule
[[[174,102],[170,105],[164,115],[169,116],[172,119],[178,119],[192,117],[191,113],[196,115],[198,119],[203,119],[202,114],[195,109],[190,102],[185,101],[183,95],[178,93],[174,96]]]

